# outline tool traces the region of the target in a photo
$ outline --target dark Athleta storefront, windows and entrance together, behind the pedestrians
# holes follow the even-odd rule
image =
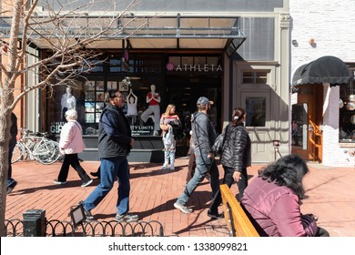
[[[136,139],[132,151],[135,160],[161,160],[159,119],[168,104],[176,105],[177,114],[186,131],[186,138],[177,143],[177,154],[186,156],[189,117],[196,110],[198,97],[205,96],[215,102],[210,118],[217,130],[221,128],[221,112],[217,109],[220,108],[221,102],[222,57],[221,53],[181,55],[168,52],[132,52],[129,55],[127,73],[122,72],[122,57],[112,54],[89,74],[77,79],[70,89],[56,87],[51,91],[53,97],[46,99],[46,125],[50,132],[58,137],[65,124],[65,111],[68,108],[76,108],[88,147],[82,158],[96,157],[96,134],[100,113],[105,107],[105,91],[117,88],[127,98],[124,113]],[[161,98],[157,112],[150,111],[146,101],[152,85]]]

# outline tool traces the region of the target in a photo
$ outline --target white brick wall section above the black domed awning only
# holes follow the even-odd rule
[[[291,76],[301,65],[320,56],[355,62],[355,0],[289,0]],[[309,45],[314,38],[316,46]]]

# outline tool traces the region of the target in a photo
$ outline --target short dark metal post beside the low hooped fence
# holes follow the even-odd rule
[[[46,210],[28,209],[25,211],[24,237],[46,237]]]

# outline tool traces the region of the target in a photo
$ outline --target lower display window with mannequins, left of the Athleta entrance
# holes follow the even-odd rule
[[[77,120],[84,135],[97,135],[100,114],[105,103],[105,92],[118,89],[125,97],[123,112],[131,126],[133,136],[158,136],[162,103],[161,78],[134,80],[123,78],[109,81],[89,79],[77,81],[75,86],[56,87],[53,97],[48,98],[49,129],[60,134],[66,123],[66,110],[75,108]],[[151,99],[152,98],[152,99]]]

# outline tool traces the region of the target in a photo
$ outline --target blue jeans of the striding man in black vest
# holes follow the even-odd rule
[[[101,158],[100,170],[100,183],[84,200],[84,208],[88,211],[96,208],[112,189],[117,178],[117,213],[119,215],[127,213],[129,210],[130,190],[127,157]]]

